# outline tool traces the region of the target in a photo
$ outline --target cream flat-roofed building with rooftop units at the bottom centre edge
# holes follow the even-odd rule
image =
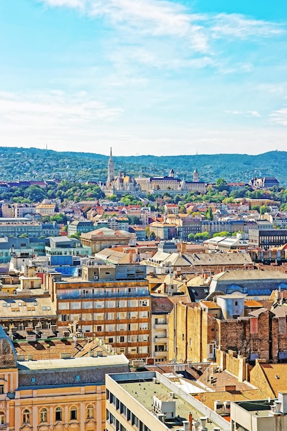
[[[107,375],[106,409],[107,431],[230,430],[224,417],[158,372]]]

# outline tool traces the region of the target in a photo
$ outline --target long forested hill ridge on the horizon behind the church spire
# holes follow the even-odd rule
[[[0,160],[2,181],[52,178],[105,181],[107,178],[108,156],[101,154],[0,147]],[[114,156],[114,162],[116,175],[125,171],[131,176],[164,176],[173,168],[175,176],[191,180],[196,168],[200,180],[206,182],[215,182],[217,178],[248,182],[253,176],[275,176],[281,185],[287,185],[286,151],[270,151],[257,156]]]

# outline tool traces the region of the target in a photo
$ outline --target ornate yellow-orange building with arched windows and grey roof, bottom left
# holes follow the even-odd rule
[[[124,355],[17,361],[0,328],[0,429],[103,431],[105,374],[127,371]]]

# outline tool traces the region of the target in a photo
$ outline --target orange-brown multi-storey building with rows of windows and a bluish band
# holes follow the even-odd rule
[[[87,336],[104,339],[129,359],[151,354],[151,296],[147,280],[51,280],[58,327],[76,328]]]

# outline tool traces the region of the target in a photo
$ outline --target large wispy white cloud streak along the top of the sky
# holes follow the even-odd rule
[[[283,32],[272,22],[242,14],[193,14],[173,1],[159,0],[41,0],[47,6],[76,8],[89,17],[107,19],[136,34],[180,38],[195,52],[212,52],[214,39],[270,37]]]

